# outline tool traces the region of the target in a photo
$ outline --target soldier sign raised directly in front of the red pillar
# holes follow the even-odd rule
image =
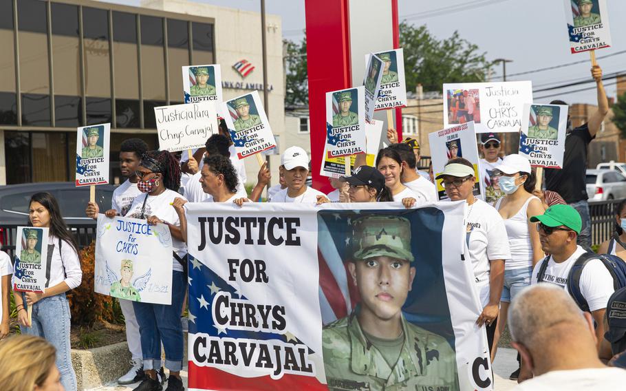
[[[326,154],[339,158],[365,154],[363,86],[326,93]]]

